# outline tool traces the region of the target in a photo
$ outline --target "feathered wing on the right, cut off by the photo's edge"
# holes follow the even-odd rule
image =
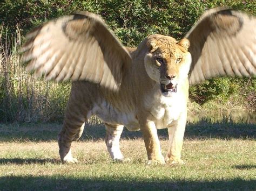
[[[256,75],[256,19],[227,8],[206,11],[187,33],[190,84],[214,76]]]

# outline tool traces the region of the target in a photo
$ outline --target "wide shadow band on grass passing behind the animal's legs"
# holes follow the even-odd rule
[[[0,124],[0,142],[27,140],[33,142],[57,140],[57,135],[62,124],[22,124],[22,125],[5,125],[2,128]],[[168,139],[167,129],[158,130],[161,139]],[[131,132],[124,128],[122,139],[142,138],[142,132]],[[185,138],[188,139],[208,139],[208,138],[239,138],[254,139],[256,137],[256,125],[244,123],[210,123],[200,121],[198,123],[188,123],[186,125]],[[101,125],[86,124],[84,133],[80,140],[100,140],[105,138],[105,127]]]

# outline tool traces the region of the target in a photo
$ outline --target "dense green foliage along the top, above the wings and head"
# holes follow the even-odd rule
[[[5,26],[4,34],[14,33],[17,27],[25,34],[49,19],[77,10],[91,11],[101,15],[125,45],[137,46],[152,33],[182,38],[206,9],[224,5],[256,13],[254,2],[5,1],[1,3],[0,23]]]

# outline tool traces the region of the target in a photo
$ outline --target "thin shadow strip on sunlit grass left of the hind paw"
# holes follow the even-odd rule
[[[16,164],[16,165],[25,165],[25,164],[60,164],[60,160],[57,159],[21,159],[21,158],[13,158],[13,159],[5,159],[0,158],[0,165],[6,165],[6,164]]]

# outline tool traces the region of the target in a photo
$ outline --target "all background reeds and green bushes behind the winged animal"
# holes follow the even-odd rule
[[[0,4],[0,122],[62,120],[70,83],[35,80],[21,67],[19,47],[36,25],[76,10],[101,15],[125,46],[149,34],[182,38],[215,6],[256,15],[254,1],[4,1]],[[256,108],[256,79],[223,78],[190,88],[193,108]],[[194,107],[194,105],[197,107]]]

